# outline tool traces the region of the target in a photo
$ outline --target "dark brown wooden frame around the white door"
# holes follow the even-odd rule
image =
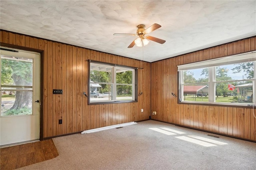
[[[8,43],[1,43],[1,47],[7,47],[7,48],[12,48],[12,49],[21,49],[21,50],[25,50],[25,51],[32,51],[32,52],[36,52],[36,53],[40,53],[40,123],[39,123],[39,140],[43,140],[44,139],[44,93],[43,93],[43,86],[44,86],[44,79],[43,79],[43,75],[44,75],[44,50],[42,49],[35,49],[35,48],[30,48],[30,47],[23,47],[23,46],[19,46],[19,45],[13,45],[13,44],[8,44]]]

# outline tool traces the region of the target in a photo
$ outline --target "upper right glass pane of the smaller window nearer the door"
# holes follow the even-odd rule
[[[132,84],[132,71],[116,69],[116,83]]]

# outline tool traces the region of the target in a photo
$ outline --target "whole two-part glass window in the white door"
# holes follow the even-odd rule
[[[33,59],[1,55],[1,116],[32,114]]]

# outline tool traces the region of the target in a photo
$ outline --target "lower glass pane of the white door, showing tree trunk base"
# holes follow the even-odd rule
[[[32,114],[32,91],[2,91],[1,99],[1,116]],[[19,103],[22,107],[12,109]]]

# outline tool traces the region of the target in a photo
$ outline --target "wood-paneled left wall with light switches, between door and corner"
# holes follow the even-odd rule
[[[144,62],[144,69],[138,70],[138,89],[143,89],[143,95],[137,103],[88,105],[83,95],[83,91],[88,93],[88,59],[138,68],[141,61],[3,30],[0,42],[44,51],[43,138],[149,119],[150,63]],[[63,94],[53,95],[52,89],[63,89]]]

